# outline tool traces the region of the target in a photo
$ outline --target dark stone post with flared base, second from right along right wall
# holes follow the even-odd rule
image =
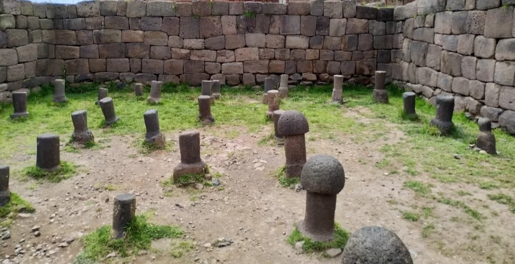
[[[436,117],[431,119],[430,125],[438,128],[444,136],[454,130],[452,115],[454,113],[454,97],[451,95],[438,95],[436,97]]]

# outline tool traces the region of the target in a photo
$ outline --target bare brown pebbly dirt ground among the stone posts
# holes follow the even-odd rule
[[[356,109],[344,115],[360,118]],[[362,119],[362,122],[368,120]],[[231,139],[229,130],[238,130],[239,136]],[[136,213],[155,210],[151,222],[179,225],[187,237],[194,239],[196,249],[181,258],[170,256],[169,245],[157,242],[161,252],[149,251],[136,257],[132,263],[331,263],[341,262],[322,258],[317,254],[298,254],[285,239],[294,228],[294,223],[303,218],[305,191],[296,193],[278,184],[273,174],[284,164],[284,150],[279,146],[259,146],[258,142],[273,131],[273,123],[259,131],[248,134],[245,127],[204,127],[201,133],[202,158],[211,166],[212,172],[225,176],[220,179],[224,190],[204,187],[196,201],[190,200],[186,190],[173,187],[171,197],[165,197],[160,182],[171,176],[179,163],[178,133],[166,134],[167,140],[175,142],[171,152],[156,151],[148,155],[138,152],[133,142],[140,135],[111,137],[109,146],[100,150],[80,149],[80,153],[61,152],[61,160],[73,161],[78,174],[60,183],[33,181],[20,182],[11,177],[10,189],[30,201],[36,209],[33,215],[21,215],[9,228],[11,238],[0,241],[0,256],[11,255],[19,263],[72,263],[82,248],[79,237],[94,231],[101,225],[111,224],[112,201],[120,193],[136,195]],[[403,174],[387,175],[373,164],[383,159],[379,152],[383,144],[399,142],[404,134],[393,126],[384,139],[369,143],[354,143],[347,135],[338,135],[334,140],[307,141],[307,156],[328,154],[335,156],[344,165],[346,183],[338,195],[336,222],[354,232],[366,225],[382,225],[397,233],[410,250],[415,263],[487,263],[484,252],[457,251],[444,254],[421,235],[420,222],[402,218],[399,208],[409,206],[416,200],[415,193],[402,188],[408,178]],[[97,137],[97,141],[102,138]],[[24,150],[10,160],[0,163],[11,165],[11,172],[35,163],[35,155]],[[359,162],[367,160],[366,164]],[[429,178],[424,175],[422,178]],[[116,186],[107,191],[105,186]],[[452,188],[452,185],[445,185]],[[33,190],[32,190],[33,189]],[[474,194],[482,196],[480,193]],[[484,195],[483,195],[484,196]],[[394,199],[399,205],[387,201]],[[435,204],[435,212],[441,215],[459,214],[460,210],[448,205]],[[491,206],[495,206],[494,203]],[[502,206],[502,205],[499,205]],[[499,209],[501,211],[502,209]],[[511,217],[511,221],[510,221]],[[491,219],[491,218],[490,218]],[[512,222],[513,215],[504,214],[492,222],[489,229],[504,233],[503,225]],[[52,221],[52,222],[51,222]],[[465,235],[472,227],[456,230],[451,223],[442,223],[440,239],[451,244],[468,241]],[[34,237],[31,227],[41,225],[41,236]],[[506,236],[513,237],[506,231]],[[208,250],[205,243],[218,238],[231,238],[234,243],[226,248]],[[58,248],[63,239],[76,238],[70,246]],[[24,239],[24,242],[19,242]],[[26,251],[23,257],[12,255],[15,245]],[[55,251],[50,256],[33,255],[37,247]],[[506,249],[508,251],[508,249]],[[511,253],[512,254],[512,253]],[[49,255],[49,253],[47,253]],[[476,259],[476,260],[473,260]],[[5,263],[5,262],[4,262]],[[18,263],[18,262],[17,262]],[[505,262],[513,263],[513,262]]]

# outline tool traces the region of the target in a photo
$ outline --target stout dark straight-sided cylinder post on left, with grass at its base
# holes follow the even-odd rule
[[[59,136],[52,134],[38,136],[36,166],[46,172],[53,172],[61,168]]]

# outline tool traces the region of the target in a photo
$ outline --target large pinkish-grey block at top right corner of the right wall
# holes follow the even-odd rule
[[[512,37],[513,6],[490,9],[486,14],[485,37]]]

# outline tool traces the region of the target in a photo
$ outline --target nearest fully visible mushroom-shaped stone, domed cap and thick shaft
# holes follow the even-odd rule
[[[300,184],[306,190],[306,215],[297,229],[315,241],[334,239],[336,195],[344,188],[344,167],[334,157],[315,155],[302,168]]]

